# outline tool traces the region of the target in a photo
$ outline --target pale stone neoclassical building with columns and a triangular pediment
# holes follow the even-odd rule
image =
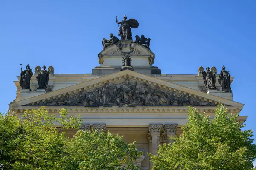
[[[228,113],[238,113],[244,106],[233,101],[231,89],[222,91],[219,73],[223,71],[217,73],[212,67],[207,72],[200,67],[198,74],[162,74],[152,66],[154,59],[155,54],[146,45],[122,40],[104,46],[98,54],[100,66],[90,74],[54,74],[50,66],[46,89],[37,89],[42,70],[37,66],[30,89],[21,88],[20,76],[14,81],[17,96],[9,111],[20,117],[25,109],[46,106],[50,114],[58,115],[59,109],[66,108],[70,116],[82,115],[81,128],[103,129],[118,133],[126,142],[136,141],[143,156],[135,163],[142,170],[150,170],[147,152],[156,154],[159,144],[170,143],[169,136],[182,133],[189,105],[211,117],[215,116],[217,102],[224,103]],[[216,88],[207,87],[206,83],[212,81],[205,79],[208,74],[214,75]],[[246,118],[238,117],[241,123]],[[76,130],[67,130],[70,137],[74,133]]]

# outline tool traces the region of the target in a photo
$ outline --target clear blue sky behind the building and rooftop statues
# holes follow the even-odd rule
[[[244,103],[246,129],[256,129],[255,0],[0,0],[0,111],[15,99],[13,83],[27,64],[55,73],[91,73],[102,38],[117,36],[119,20],[138,20],[135,35],[151,38],[154,66],[166,74],[197,74],[226,66],[233,99]],[[256,134],[256,133],[254,133]]]

